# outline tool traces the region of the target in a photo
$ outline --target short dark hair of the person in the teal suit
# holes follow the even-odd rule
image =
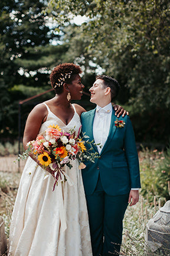
[[[107,75],[97,75],[97,79],[102,79],[104,81],[104,88],[109,87],[111,92],[111,100],[114,100],[119,94],[120,85],[115,78]]]

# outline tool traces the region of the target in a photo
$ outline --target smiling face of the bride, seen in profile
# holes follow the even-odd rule
[[[68,88],[70,89],[71,100],[81,100],[84,85],[81,83],[80,75],[74,75]]]

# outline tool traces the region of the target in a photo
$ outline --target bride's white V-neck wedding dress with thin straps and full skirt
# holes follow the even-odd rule
[[[46,107],[48,117],[40,133],[50,124],[78,133],[81,123],[75,108],[66,125]],[[77,159],[72,164],[65,170],[73,185],[59,183],[53,191],[52,175],[44,179],[42,168],[28,157],[12,213],[10,256],[92,256],[81,171]]]

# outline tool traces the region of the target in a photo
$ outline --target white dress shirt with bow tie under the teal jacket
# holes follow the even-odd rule
[[[112,103],[109,103],[103,108],[97,105],[93,122],[93,137],[96,145],[100,143],[100,145],[97,145],[99,154],[101,153],[104,143],[109,135],[111,118]],[[139,188],[132,188],[132,190],[139,190]]]

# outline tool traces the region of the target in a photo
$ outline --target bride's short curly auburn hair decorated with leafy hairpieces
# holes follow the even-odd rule
[[[61,94],[64,82],[71,83],[74,75],[79,75],[81,72],[80,66],[74,63],[62,63],[56,66],[50,74],[51,86],[54,88],[55,94]]]

